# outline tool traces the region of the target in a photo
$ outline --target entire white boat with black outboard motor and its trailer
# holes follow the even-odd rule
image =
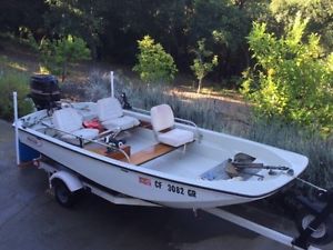
[[[32,151],[28,158],[49,174],[60,204],[71,207],[85,190],[119,204],[201,209],[293,249],[333,239],[333,189],[299,178],[306,157],[198,128],[174,118],[168,103],[132,109],[123,93],[121,106],[112,76],[112,97],[97,102],[60,101],[57,79],[34,76],[30,96],[38,111],[20,119],[13,93],[17,163]],[[305,211],[296,238],[218,208],[269,197],[295,179],[324,202],[296,198],[296,213]]]

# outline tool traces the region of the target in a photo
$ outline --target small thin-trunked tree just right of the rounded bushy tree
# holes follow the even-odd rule
[[[198,41],[198,47],[194,50],[195,59],[193,60],[193,64],[191,66],[191,69],[193,70],[196,79],[198,79],[198,89],[196,92],[200,93],[202,88],[202,80],[203,78],[213,70],[215,66],[218,66],[219,60],[218,56],[214,54],[210,50],[205,49],[205,39],[201,39]],[[209,58],[212,59],[208,61]]]

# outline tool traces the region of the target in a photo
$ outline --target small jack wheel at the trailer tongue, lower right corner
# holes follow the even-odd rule
[[[304,230],[307,226],[314,220],[314,216],[306,212],[301,211],[300,217],[296,221],[299,230]],[[333,221],[332,217],[327,217],[325,221],[323,221],[315,231],[313,231],[310,236],[311,243],[317,244],[326,244],[333,240]]]

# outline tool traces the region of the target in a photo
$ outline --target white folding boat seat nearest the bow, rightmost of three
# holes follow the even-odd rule
[[[170,106],[155,106],[151,108],[150,114],[158,141],[172,147],[180,147],[194,141],[194,133],[192,131],[173,128],[174,116]],[[168,131],[163,132],[165,130]]]

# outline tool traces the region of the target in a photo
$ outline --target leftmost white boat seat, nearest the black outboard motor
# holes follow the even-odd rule
[[[52,116],[56,129],[63,131],[61,139],[73,144],[79,144],[82,139],[93,139],[99,134],[98,129],[85,129],[82,126],[82,117],[73,108],[56,110]],[[84,140],[83,140],[84,142]]]

